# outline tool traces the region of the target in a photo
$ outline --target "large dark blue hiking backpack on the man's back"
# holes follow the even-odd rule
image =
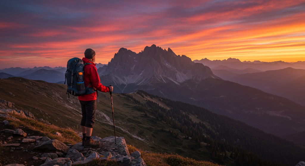
[[[94,93],[96,91],[95,88],[88,88],[91,83],[85,87],[84,82],[84,66],[91,63],[85,63],[79,58],[72,58],[67,63],[67,71],[65,74],[65,83],[67,81],[68,89],[66,94],[68,94],[69,98],[70,95],[81,96],[81,95],[88,95]]]

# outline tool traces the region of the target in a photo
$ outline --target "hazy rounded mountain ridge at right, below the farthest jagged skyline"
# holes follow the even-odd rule
[[[288,67],[260,73],[241,74],[231,78],[229,81],[266,91],[267,89],[284,85],[303,75],[305,75],[305,70]]]

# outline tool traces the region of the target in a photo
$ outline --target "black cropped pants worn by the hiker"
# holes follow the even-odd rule
[[[79,101],[81,103],[81,126],[93,128],[95,122],[95,110],[96,102],[95,100],[91,101]]]

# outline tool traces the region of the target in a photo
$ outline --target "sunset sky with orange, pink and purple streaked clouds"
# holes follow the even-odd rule
[[[86,48],[170,47],[192,60],[305,61],[305,1],[1,1],[0,69],[66,66]]]

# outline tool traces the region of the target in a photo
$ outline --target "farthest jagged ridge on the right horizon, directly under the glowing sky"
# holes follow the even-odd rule
[[[201,60],[195,60],[196,63],[202,63],[205,66],[208,66],[210,68],[214,68],[220,65],[224,65],[227,67],[231,67],[234,69],[243,70],[246,68],[253,68],[260,71],[268,71],[268,70],[279,70],[284,69],[287,67],[292,67],[296,69],[305,69],[305,66],[300,65],[294,65],[288,62],[283,61],[276,61],[276,62],[260,62],[260,61],[254,61],[254,62],[241,62],[239,59],[235,58],[228,58],[227,60],[213,60],[210,61],[207,58],[201,59]]]

